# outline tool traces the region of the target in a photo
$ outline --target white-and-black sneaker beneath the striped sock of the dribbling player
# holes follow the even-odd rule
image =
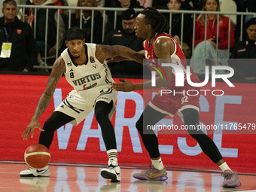
[[[102,169],[100,172],[103,178],[110,179],[112,182],[120,181],[120,167],[114,160],[108,160],[108,168]]]

